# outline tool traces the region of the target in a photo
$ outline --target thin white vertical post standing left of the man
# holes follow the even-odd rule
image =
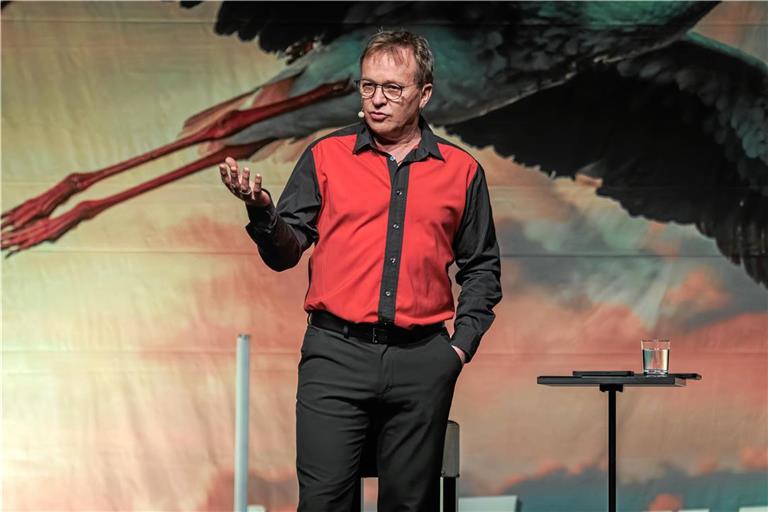
[[[235,512],[248,509],[248,388],[251,337],[237,336],[235,388]]]

